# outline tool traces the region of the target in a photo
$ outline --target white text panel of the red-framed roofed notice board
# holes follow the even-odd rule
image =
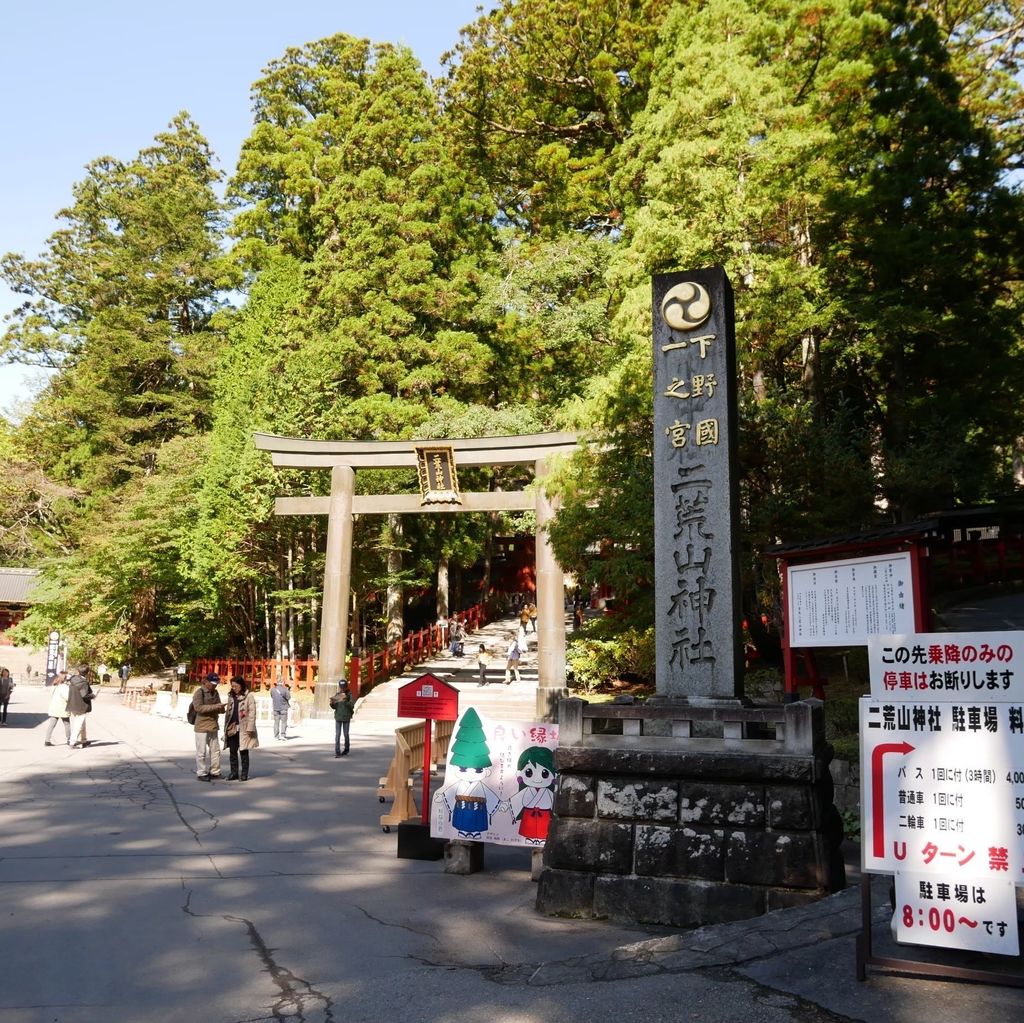
[[[864,646],[914,628],[908,553],[790,565],[786,594],[791,646]]]

